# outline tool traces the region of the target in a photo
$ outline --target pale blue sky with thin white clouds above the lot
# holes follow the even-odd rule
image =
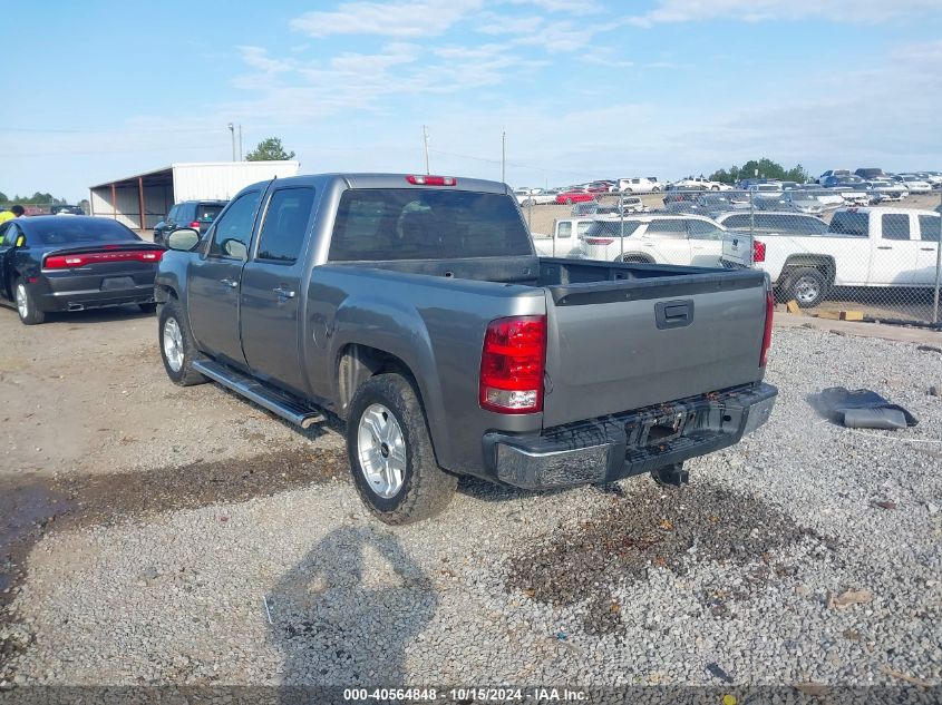
[[[42,9],[40,9],[42,8]],[[942,169],[942,0],[81,3],[3,10],[0,192],[232,157],[515,186],[750,158]]]

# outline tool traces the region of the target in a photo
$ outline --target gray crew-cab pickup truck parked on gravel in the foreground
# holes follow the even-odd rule
[[[388,523],[441,511],[463,474],[680,483],[775,403],[764,273],[538,257],[505,184],[276,179],[168,245],[169,378],[302,428],[344,420],[353,482]]]

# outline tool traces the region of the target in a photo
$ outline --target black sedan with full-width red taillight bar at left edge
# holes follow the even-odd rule
[[[0,304],[27,325],[51,311],[137,304],[153,312],[164,247],[109,218],[45,215],[0,225]]]

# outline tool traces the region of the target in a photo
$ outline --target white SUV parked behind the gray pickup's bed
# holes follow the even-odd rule
[[[584,260],[718,267],[726,234],[700,215],[609,216],[589,226],[581,254]]]

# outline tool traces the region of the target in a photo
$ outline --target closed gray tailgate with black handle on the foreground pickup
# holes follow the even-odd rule
[[[544,427],[760,380],[766,291],[755,270],[547,286]]]

